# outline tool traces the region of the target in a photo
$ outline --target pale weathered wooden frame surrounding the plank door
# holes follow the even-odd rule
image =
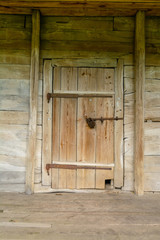
[[[42,147],[42,185],[35,191],[54,191],[51,188],[51,174],[46,171],[46,164],[51,163],[52,144],[52,100],[47,102],[47,93],[52,92],[53,67],[104,67],[115,69],[115,116],[123,118],[123,60],[106,62],[105,59],[95,64],[95,59],[52,59],[44,60],[43,68],[43,147]],[[114,187],[123,187],[123,120],[114,124]]]

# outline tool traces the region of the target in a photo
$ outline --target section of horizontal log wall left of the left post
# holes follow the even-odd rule
[[[0,39],[0,191],[24,192],[31,17],[0,15]]]

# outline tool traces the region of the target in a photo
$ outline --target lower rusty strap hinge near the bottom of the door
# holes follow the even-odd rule
[[[95,169],[95,170],[112,170],[112,167],[104,166],[86,166],[86,165],[76,165],[76,164],[60,164],[60,163],[50,163],[46,164],[46,170],[49,175],[50,168],[62,168],[62,169]]]

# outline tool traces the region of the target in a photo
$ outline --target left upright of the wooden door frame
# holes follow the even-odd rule
[[[52,99],[48,103],[47,93],[52,92],[52,66],[51,61],[44,62],[43,87],[43,147],[42,147],[42,185],[51,184],[51,175],[47,174],[46,164],[51,163],[52,149]]]

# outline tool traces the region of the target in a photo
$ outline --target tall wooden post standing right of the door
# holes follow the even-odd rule
[[[144,194],[145,12],[136,15],[135,32],[135,193]]]

